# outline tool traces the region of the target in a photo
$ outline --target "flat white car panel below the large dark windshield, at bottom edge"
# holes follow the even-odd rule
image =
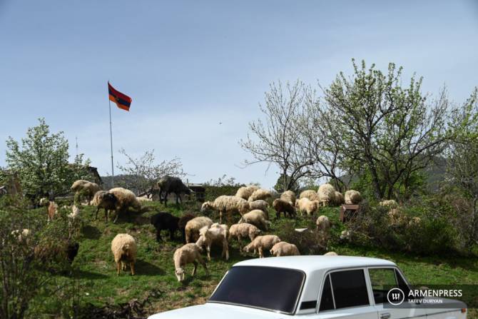
[[[240,307],[238,305],[226,305],[222,303],[205,303],[204,305],[193,305],[192,307],[180,308],[151,315],[148,319],[243,319],[250,318],[279,319],[288,315],[275,313],[268,310]]]

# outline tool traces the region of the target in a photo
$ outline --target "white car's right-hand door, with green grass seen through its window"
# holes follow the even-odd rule
[[[427,315],[424,305],[407,302],[410,288],[397,268],[367,268],[367,271],[372,288],[373,303],[375,303],[379,319],[417,318]],[[393,300],[392,293],[400,291],[404,294],[404,300],[402,301],[401,297]],[[397,305],[392,305],[392,303]]]

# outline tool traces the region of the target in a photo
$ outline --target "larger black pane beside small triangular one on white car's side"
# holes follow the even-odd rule
[[[330,274],[335,308],[370,305],[364,270],[344,270]]]

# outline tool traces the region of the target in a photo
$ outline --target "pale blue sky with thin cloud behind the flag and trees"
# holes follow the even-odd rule
[[[271,81],[322,85],[350,59],[446,84],[461,102],[478,85],[478,1],[0,0],[0,166],[8,136],[46,118],[75,153],[109,168],[106,81],[133,98],[113,108],[123,147],[178,156],[189,181],[223,174],[271,187],[277,169],[239,168],[238,141]],[[219,124],[222,122],[223,124]]]

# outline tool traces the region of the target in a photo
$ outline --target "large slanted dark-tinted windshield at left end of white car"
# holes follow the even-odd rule
[[[238,266],[228,274],[209,301],[230,303],[292,314],[305,274],[300,270]]]

